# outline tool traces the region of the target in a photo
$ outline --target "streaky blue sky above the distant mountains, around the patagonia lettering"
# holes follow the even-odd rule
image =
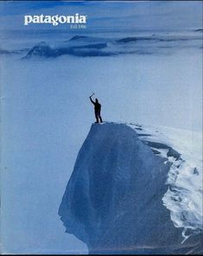
[[[70,15],[76,12],[88,16],[89,28],[156,28],[195,29],[202,27],[200,1],[4,1],[0,3],[2,29],[25,29],[24,15]],[[53,29],[52,25],[39,28]],[[59,27],[57,27],[59,28]],[[66,29],[60,25],[60,29]],[[26,28],[28,29],[28,28]]]

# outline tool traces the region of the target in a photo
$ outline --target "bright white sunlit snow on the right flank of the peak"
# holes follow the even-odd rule
[[[168,172],[168,191],[162,202],[170,210],[174,227],[183,227],[184,242],[191,234],[203,229],[201,134],[164,126],[156,129],[141,125],[130,127],[136,129],[144,143],[151,143],[157,156],[167,157],[166,161],[172,163]],[[165,149],[164,144],[168,144]],[[171,154],[172,148],[179,153]]]

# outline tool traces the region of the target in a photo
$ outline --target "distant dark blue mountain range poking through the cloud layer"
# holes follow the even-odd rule
[[[117,56],[123,54],[173,54],[182,48],[202,48],[200,32],[192,35],[174,35],[162,33],[158,35],[134,35],[117,38],[103,38],[87,35],[74,35],[61,42],[39,42],[29,48],[22,59],[33,57],[55,58],[61,55],[78,57]],[[24,49],[8,51],[1,49],[0,54],[24,53]]]

